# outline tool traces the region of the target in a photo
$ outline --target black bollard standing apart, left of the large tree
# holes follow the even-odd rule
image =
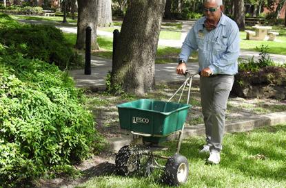
[[[90,75],[92,73],[90,64],[91,53],[91,40],[92,40],[92,27],[88,26],[85,30],[85,69],[84,74]]]

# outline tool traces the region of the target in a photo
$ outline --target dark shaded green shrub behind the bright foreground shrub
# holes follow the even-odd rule
[[[63,32],[50,25],[15,25],[9,27],[10,17],[0,15],[0,43],[13,51],[24,54],[24,58],[37,58],[54,63],[65,69],[81,64],[81,56],[74,54],[65,40]],[[3,23],[3,24],[2,24]],[[4,24],[8,27],[3,27]],[[14,23],[12,22],[12,25]]]

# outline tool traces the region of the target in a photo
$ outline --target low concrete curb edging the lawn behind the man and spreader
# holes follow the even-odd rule
[[[239,122],[226,122],[225,132],[246,132],[254,128],[261,128],[265,126],[275,126],[277,124],[286,123],[286,112],[270,113],[266,115],[258,115],[256,117],[249,117],[249,120],[242,120]],[[203,136],[205,134],[204,124],[196,126],[186,126],[183,133],[183,139],[194,136]],[[168,137],[169,140],[176,139],[176,134]],[[110,144],[110,152],[118,152],[124,145],[129,145],[132,141],[132,134],[122,135],[108,140]]]

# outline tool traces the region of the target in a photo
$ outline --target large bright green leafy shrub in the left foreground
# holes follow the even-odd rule
[[[0,187],[18,187],[101,150],[103,139],[67,73],[8,51],[0,44]]]

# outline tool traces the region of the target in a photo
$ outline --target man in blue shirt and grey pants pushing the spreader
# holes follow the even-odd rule
[[[238,71],[239,30],[221,9],[222,0],[205,0],[205,16],[190,30],[179,54],[176,73],[185,73],[186,62],[198,49],[201,106],[206,144],[201,152],[210,152],[208,163],[221,161],[221,142],[225,127],[227,98]]]

